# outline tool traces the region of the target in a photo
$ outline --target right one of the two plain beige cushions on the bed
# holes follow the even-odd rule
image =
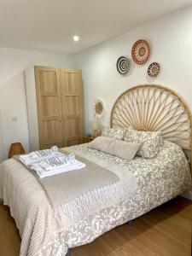
[[[139,143],[127,143],[124,141],[113,140],[107,148],[107,153],[118,156],[125,160],[133,160],[140,148]]]

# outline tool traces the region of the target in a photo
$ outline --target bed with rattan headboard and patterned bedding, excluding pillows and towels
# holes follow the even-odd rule
[[[161,131],[164,143],[154,158],[127,161],[88,144],[61,148],[96,170],[90,172],[94,179],[83,169],[67,174],[63,188],[55,177],[54,185],[48,183],[45,190],[18,160],[3,161],[0,198],[20,231],[21,256],[69,255],[70,248],[89,243],[189,189],[189,160],[183,150],[191,152],[191,114],[183,99],[155,84],[126,90],[114,103],[111,127],[129,125]]]

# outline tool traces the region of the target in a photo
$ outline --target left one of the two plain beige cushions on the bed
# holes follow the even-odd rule
[[[112,141],[113,141],[113,138],[111,137],[99,136],[99,137],[96,137],[92,142],[88,144],[88,148],[100,150],[105,153],[106,149],[109,147]]]

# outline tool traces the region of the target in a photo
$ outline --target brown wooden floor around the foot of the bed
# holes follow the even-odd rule
[[[190,256],[192,201],[182,197],[124,224],[89,245],[72,249],[72,256]],[[0,203],[0,255],[17,256],[20,236],[9,208]]]

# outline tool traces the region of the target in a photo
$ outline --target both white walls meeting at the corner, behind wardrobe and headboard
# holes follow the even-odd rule
[[[21,142],[26,151],[29,148],[24,69],[33,65],[82,68],[86,132],[90,132],[92,106],[96,97],[105,102],[107,111],[103,123],[109,125],[113,102],[119,94],[136,84],[165,84],[182,95],[192,108],[191,32],[192,8],[187,8],[73,57],[0,48],[0,112],[3,127],[0,157],[8,155],[10,143]],[[116,71],[116,61],[120,55],[131,58],[132,44],[139,38],[148,40],[150,59],[143,66],[131,61],[130,72],[122,77]],[[147,69],[153,61],[160,63],[161,71],[156,79],[149,79]],[[13,117],[17,117],[17,122],[12,122]]]

